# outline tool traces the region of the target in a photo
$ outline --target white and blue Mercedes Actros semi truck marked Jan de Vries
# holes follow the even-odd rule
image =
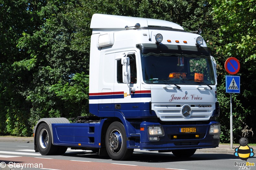
[[[124,160],[134,149],[188,157],[218,146],[216,62],[200,31],[103,14],[90,28],[89,111],[98,122],[40,119],[36,152],[71,148]]]

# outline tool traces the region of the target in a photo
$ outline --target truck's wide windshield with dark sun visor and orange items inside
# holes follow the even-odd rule
[[[137,48],[147,84],[215,84],[208,48],[163,44],[138,44]]]

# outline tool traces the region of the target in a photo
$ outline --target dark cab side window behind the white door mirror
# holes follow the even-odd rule
[[[130,58],[130,70],[131,70],[131,83],[137,83],[137,67],[136,67],[136,58],[135,54],[128,55]],[[122,79],[122,64],[121,60],[117,61],[117,82],[123,83]]]

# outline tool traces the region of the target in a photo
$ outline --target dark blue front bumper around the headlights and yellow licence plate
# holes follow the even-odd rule
[[[203,149],[203,148],[215,148],[219,145],[219,138],[214,139],[209,134],[209,130],[212,124],[218,124],[218,122],[210,122],[208,124],[195,124],[195,125],[161,125],[160,123],[142,122],[141,127],[144,127],[145,131],[141,131],[140,137],[140,149],[141,150],[175,150],[175,149]],[[159,136],[158,141],[149,141],[150,135],[147,132],[148,126],[162,126],[164,130],[164,136]],[[180,128],[196,128],[196,132],[182,133]],[[199,137],[195,137],[198,134]],[[176,136],[177,138],[173,138]]]

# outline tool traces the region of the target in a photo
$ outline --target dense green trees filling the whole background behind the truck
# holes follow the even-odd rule
[[[217,62],[222,136],[229,137],[224,62],[241,62],[234,132],[254,127],[255,1],[0,0],[0,133],[30,136],[43,117],[88,114],[90,20],[94,13],[156,18],[202,36]],[[249,80],[249,81],[248,81]],[[250,118],[250,119],[249,119]]]

